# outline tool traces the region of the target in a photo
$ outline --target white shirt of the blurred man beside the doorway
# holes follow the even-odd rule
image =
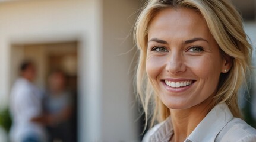
[[[11,89],[10,112],[12,127],[10,139],[20,142],[28,135],[35,135],[41,141],[46,140],[44,127],[31,119],[42,114],[43,93],[25,78],[18,78]]]

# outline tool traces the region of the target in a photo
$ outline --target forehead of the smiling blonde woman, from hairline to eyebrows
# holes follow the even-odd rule
[[[148,38],[151,35],[173,35],[179,37],[207,36],[210,31],[206,21],[199,12],[186,8],[167,8],[158,12],[150,23]]]

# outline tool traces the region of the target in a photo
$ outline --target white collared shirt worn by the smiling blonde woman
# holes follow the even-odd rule
[[[168,142],[173,135],[170,117],[149,130],[143,142]],[[255,142],[256,130],[233,117],[226,103],[216,105],[197,125],[185,142]]]

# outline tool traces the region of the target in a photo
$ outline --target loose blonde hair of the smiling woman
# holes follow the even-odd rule
[[[146,73],[148,27],[154,16],[166,8],[187,8],[200,13],[219,45],[222,56],[232,58],[229,72],[220,75],[213,101],[214,105],[226,102],[232,114],[241,117],[237,93],[240,86],[246,83],[250,72],[252,47],[235,7],[225,0],[151,0],[141,11],[134,30],[135,42],[140,50],[136,87],[145,112],[146,125],[148,118],[151,118],[152,126],[155,121],[163,121],[170,115],[169,108],[155,94]]]

